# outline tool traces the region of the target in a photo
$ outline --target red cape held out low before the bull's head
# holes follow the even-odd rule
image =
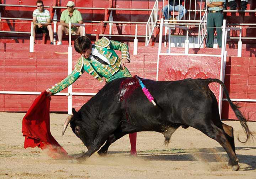
[[[24,148],[38,146],[52,158],[66,157],[68,153],[50,132],[50,100],[46,91],[38,96],[22,120]]]

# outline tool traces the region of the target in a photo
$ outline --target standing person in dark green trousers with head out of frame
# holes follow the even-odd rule
[[[206,5],[208,8],[207,15],[207,39],[206,39],[206,47],[213,48],[213,40],[214,40],[214,27],[216,27],[217,31],[217,41],[218,46],[221,48],[222,44],[222,29],[221,26],[223,24],[223,8],[226,0],[207,0]]]

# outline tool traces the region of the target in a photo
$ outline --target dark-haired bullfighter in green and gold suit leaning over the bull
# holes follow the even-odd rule
[[[130,63],[129,49],[125,43],[102,37],[102,39],[92,44],[87,36],[82,36],[75,40],[74,47],[76,52],[81,54],[81,57],[68,77],[51,89],[46,90],[50,95],[56,94],[72,85],[84,72],[89,73],[100,82],[105,79],[106,83],[118,78],[132,77],[125,67],[126,63]],[[122,59],[118,57],[114,50],[121,51]],[[136,155],[137,153],[136,136],[136,132],[129,134],[131,155]]]

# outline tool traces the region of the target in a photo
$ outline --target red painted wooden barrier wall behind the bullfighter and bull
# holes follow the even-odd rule
[[[29,45],[0,43],[0,90],[40,92],[50,88],[67,75],[67,46],[35,45],[34,53],[28,52]],[[184,49],[177,48],[178,52]],[[191,49],[194,51],[195,49]],[[213,49],[218,53],[218,49]],[[127,64],[132,75],[156,79],[157,47],[140,47],[138,55],[131,55]],[[198,51],[204,53],[205,49]],[[73,49],[73,66],[79,55]],[[132,54],[132,49],[130,49]],[[208,51],[209,53],[209,51]],[[245,52],[243,52],[245,53]],[[250,52],[248,52],[250,53]],[[229,53],[230,54],[230,53]],[[249,54],[250,56],[251,54]],[[254,55],[255,56],[255,55]],[[256,99],[256,57],[228,57],[226,62],[225,85],[230,98]],[[161,56],[159,80],[185,78],[219,78],[219,57]],[[73,84],[74,92],[97,92],[104,86],[91,75],[84,73]],[[218,96],[218,86],[210,88]],[[64,90],[62,92],[67,92]],[[0,111],[27,111],[35,95],[0,94]],[[73,106],[78,110],[90,96],[73,96]],[[256,102],[240,102],[241,110],[256,121]],[[66,96],[52,96],[51,111],[67,111]],[[236,119],[227,102],[223,102],[222,118]]]

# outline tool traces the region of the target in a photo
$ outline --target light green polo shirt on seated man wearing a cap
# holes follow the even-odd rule
[[[66,9],[66,10],[62,11],[60,20],[62,20],[68,24],[69,21],[71,21],[72,23],[78,23],[79,21],[83,20],[83,18],[82,18],[81,13],[76,9],[74,9],[74,12],[73,12],[72,16],[70,17],[69,12]],[[76,31],[77,28],[71,28],[71,29],[72,29],[72,31]]]

